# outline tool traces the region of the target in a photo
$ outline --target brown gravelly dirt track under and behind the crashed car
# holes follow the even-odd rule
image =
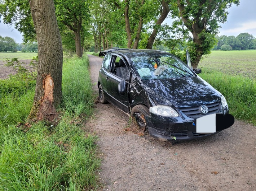
[[[102,58],[89,55],[95,93]],[[242,121],[206,139],[164,142],[141,136],[111,104],[86,124],[99,141],[99,190],[256,190],[256,127]]]

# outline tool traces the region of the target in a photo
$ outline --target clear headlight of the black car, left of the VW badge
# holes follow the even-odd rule
[[[150,113],[154,113],[155,115],[160,115],[164,117],[177,117],[178,113],[170,106],[153,106],[149,108]]]

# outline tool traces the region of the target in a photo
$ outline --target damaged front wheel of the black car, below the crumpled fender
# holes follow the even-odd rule
[[[137,105],[132,108],[131,116],[135,118],[137,125],[145,129],[146,128],[146,120],[145,116],[149,115],[149,108],[144,105]]]

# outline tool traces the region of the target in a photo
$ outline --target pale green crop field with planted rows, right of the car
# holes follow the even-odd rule
[[[256,50],[212,51],[199,62],[198,68],[202,73],[207,69],[256,79]]]

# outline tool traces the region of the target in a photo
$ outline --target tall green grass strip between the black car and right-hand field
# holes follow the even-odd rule
[[[238,120],[247,120],[256,125],[256,80],[241,75],[228,75],[211,69],[199,74],[221,92]]]

